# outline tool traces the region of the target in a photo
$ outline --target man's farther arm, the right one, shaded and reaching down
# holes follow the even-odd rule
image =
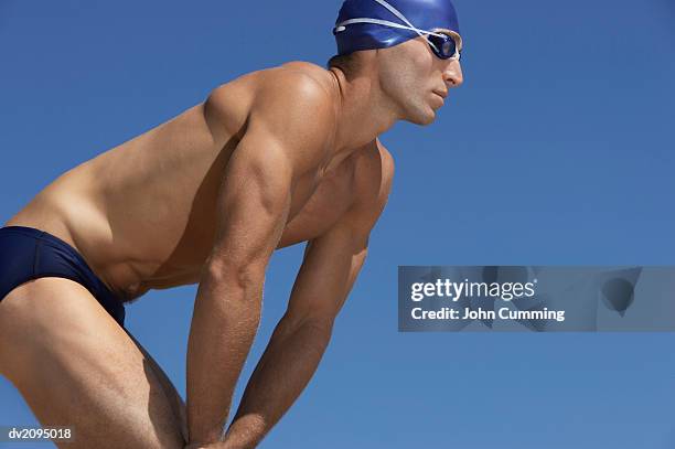
[[[364,195],[329,232],[308,243],[288,310],[248,382],[224,448],[256,447],[314,374],[385,205],[390,167],[385,170],[389,173],[371,188],[369,197]]]

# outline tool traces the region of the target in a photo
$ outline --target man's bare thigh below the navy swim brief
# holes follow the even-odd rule
[[[185,445],[173,385],[77,282],[41,278],[0,301],[0,373],[43,426],[74,429],[60,447]]]

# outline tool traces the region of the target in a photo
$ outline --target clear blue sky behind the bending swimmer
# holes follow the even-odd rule
[[[465,84],[383,136],[389,204],[331,345],[275,448],[672,448],[668,333],[398,333],[398,265],[674,265],[675,7],[457,0]],[[291,60],[323,64],[339,1],[0,1],[0,221],[54,178]],[[278,252],[237,388],[302,247]],[[185,389],[196,289],[127,325]],[[0,379],[0,425],[34,425]],[[21,445],[29,448],[30,445]]]

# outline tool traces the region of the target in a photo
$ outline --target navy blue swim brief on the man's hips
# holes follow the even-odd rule
[[[44,231],[26,226],[0,228],[0,301],[32,279],[57,277],[84,286],[125,327],[125,307],[92,271],[75,248]]]

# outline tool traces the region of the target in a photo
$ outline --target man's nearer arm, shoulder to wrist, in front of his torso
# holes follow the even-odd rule
[[[287,82],[282,74],[276,78]],[[311,169],[311,150],[325,138],[321,126],[304,129],[308,115],[321,116],[317,89],[297,83],[286,87],[276,92],[287,98],[274,93],[266,98],[265,92],[258,96],[224,173],[214,247],[197,289],[188,343],[192,443],[221,437],[258,328],[265,269],[286,226],[293,185],[298,173]]]

